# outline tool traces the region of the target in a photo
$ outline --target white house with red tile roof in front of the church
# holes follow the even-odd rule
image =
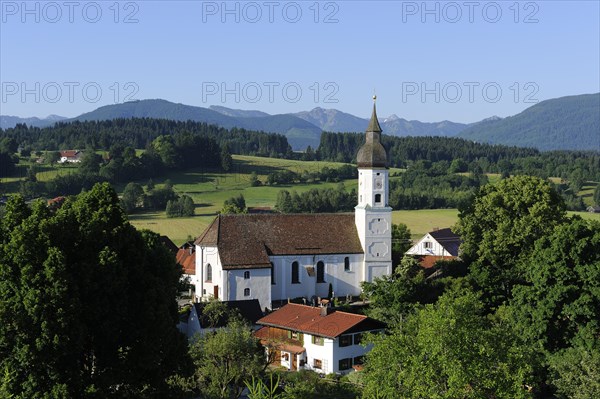
[[[363,334],[385,329],[383,323],[364,315],[293,303],[258,324],[264,327],[255,336],[273,364],[321,374],[344,374],[362,365],[371,350],[371,345],[362,345]]]

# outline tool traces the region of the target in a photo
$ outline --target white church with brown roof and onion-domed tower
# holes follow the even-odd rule
[[[375,100],[375,97],[373,97]],[[375,104],[357,154],[358,198],[352,213],[218,215],[196,239],[196,299],[356,296],[363,281],[392,272],[389,171]]]

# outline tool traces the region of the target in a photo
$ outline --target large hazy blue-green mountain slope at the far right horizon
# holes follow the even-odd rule
[[[600,93],[542,101],[520,114],[471,126],[458,137],[544,151],[600,151]]]

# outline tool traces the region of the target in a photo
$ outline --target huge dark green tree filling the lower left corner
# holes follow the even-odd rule
[[[0,370],[19,398],[164,393],[186,359],[181,271],[108,184],[51,211],[19,196],[0,222]],[[142,393],[143,392],[143,393]]]

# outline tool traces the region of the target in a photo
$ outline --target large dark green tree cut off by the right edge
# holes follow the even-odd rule
[[[541,237],[523,260],[526,284],[511,309],[527,342],[553,353],[593,345],[600,331],[600,223],[573,218]]]

